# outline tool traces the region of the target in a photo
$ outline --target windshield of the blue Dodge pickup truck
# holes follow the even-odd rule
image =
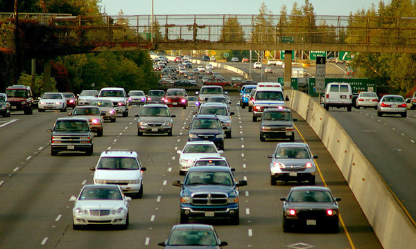
[[[189,172],[185,185],[227,185],[233,184],[229,172]]]

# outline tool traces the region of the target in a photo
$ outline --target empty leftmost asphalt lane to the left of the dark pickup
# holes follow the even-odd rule
[[[10,174],[15,174],[36,154],[40,153],[50,142],[51,133],[57,118],[66,113],[48,111],[33,112],[33,115],[14,115],[1,121],[12,121],[0,128],[0,181],[8,181]]]

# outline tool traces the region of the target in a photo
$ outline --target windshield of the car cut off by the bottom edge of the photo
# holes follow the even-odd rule
[[[217,241],[211,230],[173,230],[168,246],[216,246]]]

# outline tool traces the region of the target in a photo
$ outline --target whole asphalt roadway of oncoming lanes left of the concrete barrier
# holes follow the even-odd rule
[[[372,228],[349,190],[338,167],[319,138],[300,116],[295,114],[295,140],[309,143],[322,177],[317,185],[327,184],[340,201],[339,234],[322,231],[284,233],[281,228],[279,199],[294,185],[270,185],[269,159],[277,140],[260,142],[259,122],[252,122],[247,109],[236,106],[232,96],[232,138],[225,141],[225,156],[236,168],[237,180],[247,179],[241,187],[241,223],[213,224],[226,248],[381,248]],[[192,118],[192,108],[172,109],[173,136],[137,136],[140,107],[130,107],[130,116],[105,122],[104,136],[94,138],[94,155],[65,153],[51,156],[49,139],[56,118],[66,113],[46,111],[24,116],[13,113],[0,119],[0,248],[159,248],[171,226],[179,222],[179,188],[171,185],[181,180],[177,149],[187,141],[185,127]],[[68,112],[71,112],[69,109]],[[9,122],[9,123],[8,123]],[[302,135],[302,136],[301,136]],[[130,205],[128,230],[96,228],[72,230],[71,196],[92,183],[92,172],[101,151],[106,149],[138,151],[147,167],[144,198]]]

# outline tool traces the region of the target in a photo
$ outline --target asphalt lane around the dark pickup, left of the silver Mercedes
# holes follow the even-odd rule
[[[5,202],[0,213],[5,217],[0,225],[1,247],[33,245],[36,248],[44,243],[44,247],[53,248],[58,243],[72,224],[73,203],[69,203],[69,198],[78,195],[83,184],[92,183],[89,168],[96,165],[99,152],[112,146],[118,131],[125,127],[119,121],[105,125],[104,136],[94,138],[93,156],[77,152],[51,156],[47,147],[1,186],[0,198]],[[109,127],[114,129],[113,133]]]

